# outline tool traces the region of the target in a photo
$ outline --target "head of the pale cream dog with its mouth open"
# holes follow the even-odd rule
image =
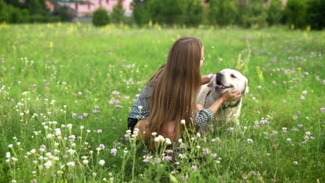
[[[219,71],[217,75],[211,79],[208,87],[213,87],[213,90],[217,94],[223,94],[233,89],[240,89],[242,95],[246,95],[249,92],[247,78],[234,69],[223,69]]]

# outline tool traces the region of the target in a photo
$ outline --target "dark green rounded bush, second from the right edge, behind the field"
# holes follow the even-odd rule
[[[306,26],[306,4],[303,0],[288,0],[285,6],[285,22],[297,28]]]

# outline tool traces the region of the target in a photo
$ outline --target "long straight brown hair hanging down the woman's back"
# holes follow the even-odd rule
[[[149,113],[149,129],[160,134],[167,121],[174,121],[175,137],[184,130],[181,120],[188,127],[194,126],[192,114],[197,105],[201,86],[200,60],[203,44],[195,37],[182,37],[169,50],[164,64],[149,80],[155,82]]]

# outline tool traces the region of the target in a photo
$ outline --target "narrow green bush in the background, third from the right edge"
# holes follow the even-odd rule
[[[280,24],[283,19],[283,6],[281,0],[272,0],[267,7],[267,23],[272,26]]]

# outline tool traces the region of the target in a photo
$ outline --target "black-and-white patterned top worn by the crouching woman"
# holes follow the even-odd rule
[[[133,105],[133,108],[130,114],[128,115],[129,118],[144,119],[149,116],[150,100],[153,94],[153,88],[154,88],[154,83],[151,82],[147,84],[144,87],[144,89],[142,89],[139,98],[137,99],[137,101],[135,101],[135,104]],[[195,119],[195,128],[199,130],[199,128],[209,123],[212,118],[213,118],[213,112],[209,109],[197,111],[197,115]]]

